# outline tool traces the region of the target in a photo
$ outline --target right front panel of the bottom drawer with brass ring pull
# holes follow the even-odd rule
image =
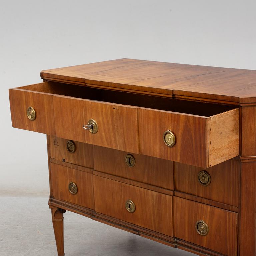
[[[175,237],[224,255],[237,255],[237,213],[179,197],[173,199]]]

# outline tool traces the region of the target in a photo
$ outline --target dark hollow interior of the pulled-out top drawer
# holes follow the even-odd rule
[[[131,92],[98,89],[88,86],[72,85],[58,82],[45,82],[19,87],[19,89],[58,94],[75,98],[104,101],[115,104],[151,108],[198,116],[213,116],[231,109],[234,105],[187,101]]]

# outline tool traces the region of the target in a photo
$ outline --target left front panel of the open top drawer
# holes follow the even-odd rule
[[[45,86],[45,83],[39,85]],[[51,95],[21,89],[10,89],[9,97],[13,127],[50,135],[55,134]],[[29,107],[33,107],[35,111],[34,120],[29,119],[27,116]]]

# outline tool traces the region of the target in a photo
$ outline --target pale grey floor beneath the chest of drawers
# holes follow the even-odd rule
[[[0,197],[0,255],[57,256],[47,197]],[[93,221],[64,214],[65,256],[195,256]]]

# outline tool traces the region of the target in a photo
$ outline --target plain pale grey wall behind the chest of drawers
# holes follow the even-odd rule
[[[255,11],[255,0],[0,0],[0,193],[49,189],[46,135],[12,128],[8,88],[118,58],[256,69]]]

